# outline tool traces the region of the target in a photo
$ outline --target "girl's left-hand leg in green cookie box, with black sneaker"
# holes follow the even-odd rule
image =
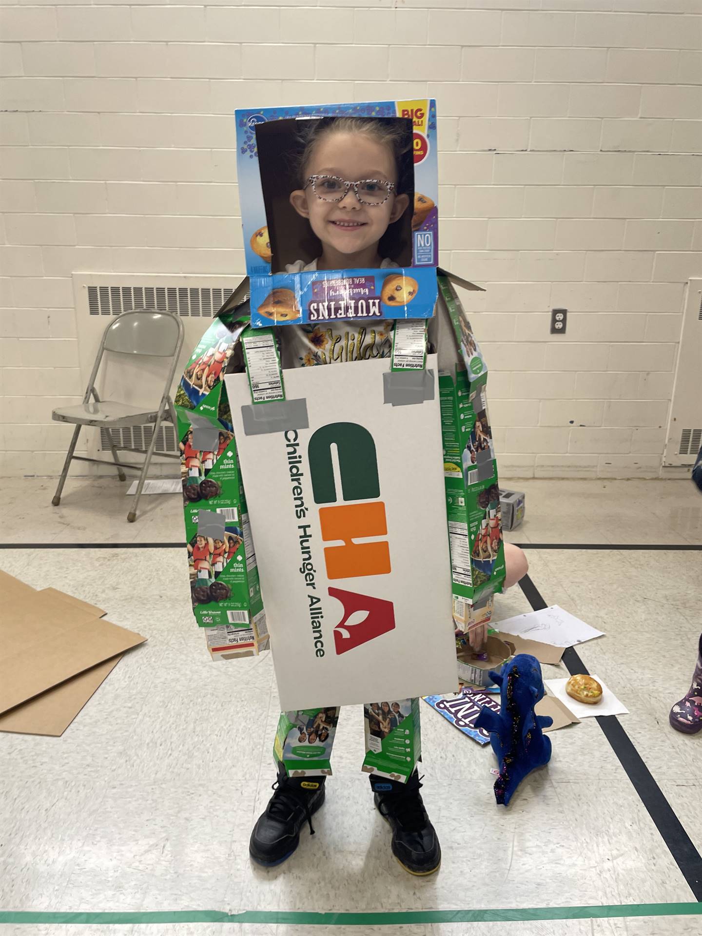
[[[300,828],[307,822],[314,835],[312,816],[324,803],[324,784],[331,773],[329,755],[340,709],[282,711],[273,745],[278,778],[265,811],[258,817],[249,842],[249,854],[261,865],[279,865],[300,844]],[[325,713],[329,724],[323,741],[307,724]],[[314,737],[316,735],[317,737]]]

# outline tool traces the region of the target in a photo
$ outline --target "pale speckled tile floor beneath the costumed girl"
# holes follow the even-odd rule
[[[702,496],[685,481],[529,480],[521,543],[699,544]],[[143,500],[77,478],[7,479],[5,543],[175,543],[177,495]],[[631,714],[622,725],[702,850],[702,735],[667,725],[692,675],[700,631],[699,552],[530,549],[548,604],[604,630],[578,652]],[[0,911],[458,911],[690,901],[692,891],[594,719],[550,737],[547,770],[495,806],[490,750],[422,708],[425,801],[444,849],[417,880],[389,853],[358,772],[358,707],[344,712],[335,776],[316,836],[282,868],[252,866],[247,842],[270,796],[277,720],[268,654],[210,663],[192,621],[177,548],[7,548],[0,568],[108,610],[149,637],[117,665],[61,739],[0,735]],[[529,609],[519,590],[497,617]],[[566,675],[545,666],[545,676]],[[339,928],[288,924],[14,925],[9,933],[103,936],[441,936],[692,934],[695,916]]]

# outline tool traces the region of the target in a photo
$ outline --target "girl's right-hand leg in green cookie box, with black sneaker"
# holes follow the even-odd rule
[[[401,699],[398,704],[405,717],[383,739],[370,734],[366,714],[363,770],[371,773],[375,808],[392,829],[392,854],[411,874],[433,874],[441,865],[441,845],[419,793],[419,699]],[[364,709],[367,713],[370,704]]]

